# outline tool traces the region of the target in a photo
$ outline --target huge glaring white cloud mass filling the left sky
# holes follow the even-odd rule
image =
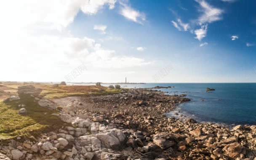
[[[6,1],[5,5],[0,6],[0,43],[3,45],[1,52],[5,53],[6,59],[0,63],[0,68],[9,64],[17,64],[19,67],[11,65],[3,71],[5,80],[35,80],[35,77],[40,77],[37,80],[42,81],[64,80],[64,75],[82,63],[85,63],[88,70],[91,69],[92,74],[88,75],[90,78],[97,77],[93,73],[95,70],[102,73],[105,68],[113,68],[114,71],[114,68],[150,64],[150,61],[143,58],[120,55],[115,49],[99,44],[94,38],[75,37],[71,27],[68,28],[70,32],[67,30],[78,11],[91,15],[97,13],[104,5],[112,9],[114,2]],[[85,81],[87,80],[85,77]]]

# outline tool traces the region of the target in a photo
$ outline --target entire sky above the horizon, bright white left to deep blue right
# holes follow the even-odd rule
[[[0,80],[256,82],[255,0],[6,0]]]

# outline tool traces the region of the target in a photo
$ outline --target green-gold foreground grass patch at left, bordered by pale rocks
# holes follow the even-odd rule
[[[27,115],[18,114],[19,104],[26,105]],[[37,136],[61,128],[64,123],[52,113],[56,111],[40,107],[29,96],[21,97],[18,101],[0,102],[0,140],[16,136]]]

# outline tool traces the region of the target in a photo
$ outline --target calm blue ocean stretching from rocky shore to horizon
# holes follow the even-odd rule
[[[173,86],[157,90],[170,95],[186,94],[191,99],[179,105],[179,114],[198,121],[256,125],[256,83],[147,83],[123,84],[121,87],[150,88],[156,85]],[[216,91],[206,92],[206,88]],[[173,112],[167,115],[172,116]]]

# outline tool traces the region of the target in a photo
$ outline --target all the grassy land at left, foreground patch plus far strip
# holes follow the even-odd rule
[[[16,136],[36,136],[47,131],[54,131],[65,125],[59,117],[51,115],[57,111],[40,107],[30,96],[20,100],[4,103],[3,99],[17,95],[17,88],[23,83],[4,83],[0,87],[0,140],[12,139]],[[56,99],[66,96],[99,95],[120,93],[119,89],[103,86],[59,85],[52,88],[50,84],[32,84],[42,88],[45,98]],[[19,104],[25,104],[28,114],[19,115]]]

